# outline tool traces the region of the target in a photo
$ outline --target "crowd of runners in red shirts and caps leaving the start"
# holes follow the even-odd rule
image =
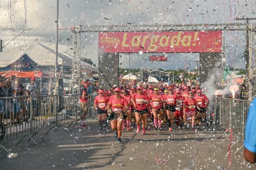
[[[90,82],[89,82],[90,83]],[[84,127],[86,115],[86,87],[83,83],[81,90],[81,127]],[[136,87],[117,87],[110,90],[99,89],[94,99],[94,109],[98,113],[100,129],[108,126],[114,131],[114,138],[122,143],[122,131],[130,131],[130,126],[136,128],[136,133],[146,134],[147,124],[154,125],[154,131],[162,131],[162,124],[168,124],[168,131],[172,126],[188,128],[191,131],[200,130],[200,125],[206,121],[206,110],[209,99],[202,93],[198,85],[160,85],[147,83]]]

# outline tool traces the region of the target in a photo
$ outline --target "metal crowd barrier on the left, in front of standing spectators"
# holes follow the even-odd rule
[[[92,96],[88,101],[88,106],[91,108],[93,101]],[[2,148],[4,148],[3,143],[12,139],[20,139],[20,143],[26,136],[37,145],[33,140],[36,134],[45,140],[39,132],[44,130],[49,132],[52,128],[56,131],[62,125],[71,125],[81,117],[77,95],[1,97],[0,111],[0,147]],[[90,112],[90,115],[93,115],[93,112]]]

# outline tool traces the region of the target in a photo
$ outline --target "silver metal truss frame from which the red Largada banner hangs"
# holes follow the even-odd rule
[[[256,94],[256,86],[253,85],[256,80],[255,65],[253,66],[253,56],[255,57],[255,29],[256,24],[252,23],[232,23],[232,24],[184,24],[184,25],[76,25],[72,27],[73,45],[74,45],[74,59],[73,59],[73,73],[72,73],[72,89],[73,93],[77,92],[79,88],[74,88],[74,83],[79,87],[79,66],[81,60],[81,32],[161,32],[161,31],[247,31],[248,37],[248,90],[249,96],[254,97]],[[255,81],[256,83],[256,81]]]

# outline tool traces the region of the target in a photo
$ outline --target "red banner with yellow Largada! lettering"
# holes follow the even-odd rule
[[[102,32],[104,52],[221,52],[221,31]]]

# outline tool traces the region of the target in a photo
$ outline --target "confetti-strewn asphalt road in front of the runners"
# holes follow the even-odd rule
[[[174,127],[168,132],[164,124],[163,131],[151,128],[146,135],[131,128],[122,133],[122,143],[117,143],[110,127],[100,130],[96,120],[88,120],[87,125],[72,124],[68,132],[62,128],[47,135],[40,132],[45,141],[35,136],[38,145],[28,137],[19,145],[19,139],[4,143],[13,154],[8,157],[0,148],[0,169],[248,169],[243,149],[234,154],[243,143],[229,150],[230,138],[220,138],[225,129],[218,127],[198,132]]]

